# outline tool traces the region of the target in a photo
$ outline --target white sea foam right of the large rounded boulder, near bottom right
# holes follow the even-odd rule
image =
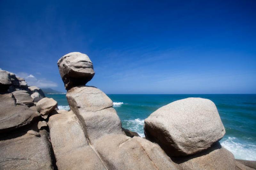
[[[220,144],[232,152],[236,159],[256,160],[256,145],[242,142],[236,137],[222,139]]]

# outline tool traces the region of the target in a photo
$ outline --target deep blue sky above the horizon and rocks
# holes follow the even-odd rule
[[[65,92],[87,54],[108,94],[256,93],[256,1],[0,1],[0,68]]]

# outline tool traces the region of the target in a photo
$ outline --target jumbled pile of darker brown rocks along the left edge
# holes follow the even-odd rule
[[[40,93],[40,102],[44,93],[4,70],[0,70],[0,86],[0,169],[53,169],[47,124],[40,121],[43,118],[31,97]]]

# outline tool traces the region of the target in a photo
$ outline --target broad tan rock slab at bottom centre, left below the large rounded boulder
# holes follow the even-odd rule
[[[177,169],[157,144],[141,137],[106,135],[95,148],[108,169]]]

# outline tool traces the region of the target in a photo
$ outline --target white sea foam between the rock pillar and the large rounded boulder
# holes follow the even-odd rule
[[[143,130],[143,119],[124,120],[123,122],[129,127],[129,130],[137,132],[140,135],[140,137],[145,137]]]

